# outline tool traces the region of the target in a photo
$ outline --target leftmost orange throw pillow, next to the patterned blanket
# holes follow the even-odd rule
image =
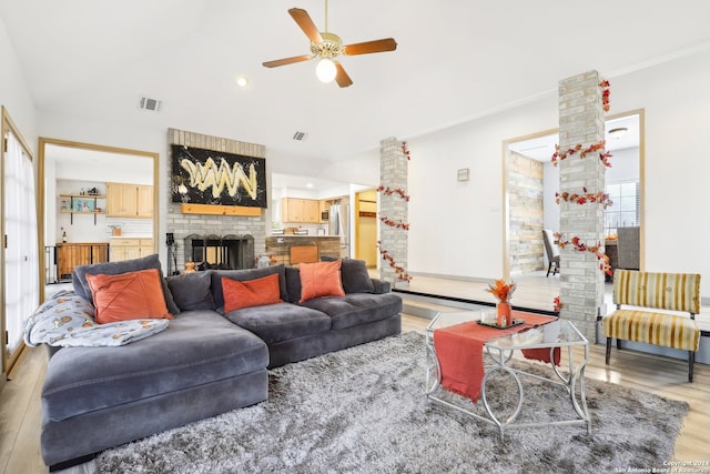
[[[99,324],[126,320],[165,319],[168,312],[156,269],[119,275],[87,274]]]

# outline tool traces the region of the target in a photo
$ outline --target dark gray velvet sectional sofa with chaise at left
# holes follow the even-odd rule
[[[91,301],[89,274],[158,268],[158,255],[78,268],[74,293]],[[224,314],[222,278],[278,274],[282,303]],[[51,470],[268,396],[271,367],[400,332],[402,300],[343,260],[344,296],[298,303],[297,268],[209,270],[163,279],[166,330],[125,345],[50,349],[42,390],[41,451]]]

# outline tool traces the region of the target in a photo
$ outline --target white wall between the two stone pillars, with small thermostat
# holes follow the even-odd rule
[[[409,273],[503,275],[503,141],[557,127],[557,98],[407,140]],[[470,169],[458,182],[456,171]]]

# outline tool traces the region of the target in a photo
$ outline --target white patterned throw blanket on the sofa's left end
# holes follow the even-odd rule
[[[73,292],[61,291],[42,303],[24,323],[24,343],[61,346],[116,346],[158,334],[169,320],[130,320],[98,324],[94,309]]]

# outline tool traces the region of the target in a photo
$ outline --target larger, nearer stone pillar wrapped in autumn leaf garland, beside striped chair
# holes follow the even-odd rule
[[[597,71],[559,82],[559,147],[582,149],[604,140],[602,91]],[[604,190],[606,168],[597,152],[580,159],[572,154],[559,162],[560,192]],[[561,239],[578,236],[586,245],[604,244],[604,208],[599,203],[560,202]],[[596,340],[596,319],[604,303],[604,272],[591,252],[568,245],[560,251],[560,317],[575,323],[590,341]]]

